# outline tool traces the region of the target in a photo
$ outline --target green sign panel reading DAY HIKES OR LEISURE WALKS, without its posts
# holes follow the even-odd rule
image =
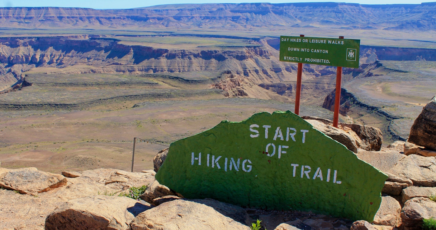
[[[360,40],[280,36],[280,61],[359,68]]]

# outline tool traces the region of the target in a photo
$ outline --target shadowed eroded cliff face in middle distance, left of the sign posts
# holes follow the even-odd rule
[[[228,50],[170,50],[87,36],[0,38],[0,91],[20,83],[24,71],[35,67],[68,69],[68,73],[220,71],[228,74],[211,88],[225,90],[228,97],[270,99],[258,85],[295,80],[296,73],[292,63],[279,62],[275,50],[253,43]]]

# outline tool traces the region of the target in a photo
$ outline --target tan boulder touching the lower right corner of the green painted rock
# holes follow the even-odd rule
[[[391,227],[398,227],[401,225],[401,205],[393,197],[381,197],[380,208],[375,213],[374,221],[372,223],[377,225],[385,225]]]

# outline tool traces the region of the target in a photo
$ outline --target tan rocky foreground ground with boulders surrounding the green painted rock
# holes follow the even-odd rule
[[[248,230],[252,222],[262,220],[264,229],[275,230],[421,229],[423,219],[436,217],[436,149],[431,139],[436,133],[435,105],[436,97],[412,126],[411,141],[419,145],[397,141],[380,148],[377,129],[347,124],[335,129],[326,125],[328,120],[305,117],[350,150],[355,147],[358,158],[388,175],[372,223],[184,199],[154,178],[166,158],[163,150],[153,160],[155,169],[140,173],[96,169],[54,174],[33,167],[0,168],[0,228]],[[118,196],[143,185],[147,187],[138,200]]]

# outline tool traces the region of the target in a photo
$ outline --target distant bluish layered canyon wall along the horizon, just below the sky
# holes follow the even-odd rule
[[[6,28],[195,28],[336,27],[363,30],[436,29],[436,3],[206,3],[95,10],[59,7],[0,8]]]

